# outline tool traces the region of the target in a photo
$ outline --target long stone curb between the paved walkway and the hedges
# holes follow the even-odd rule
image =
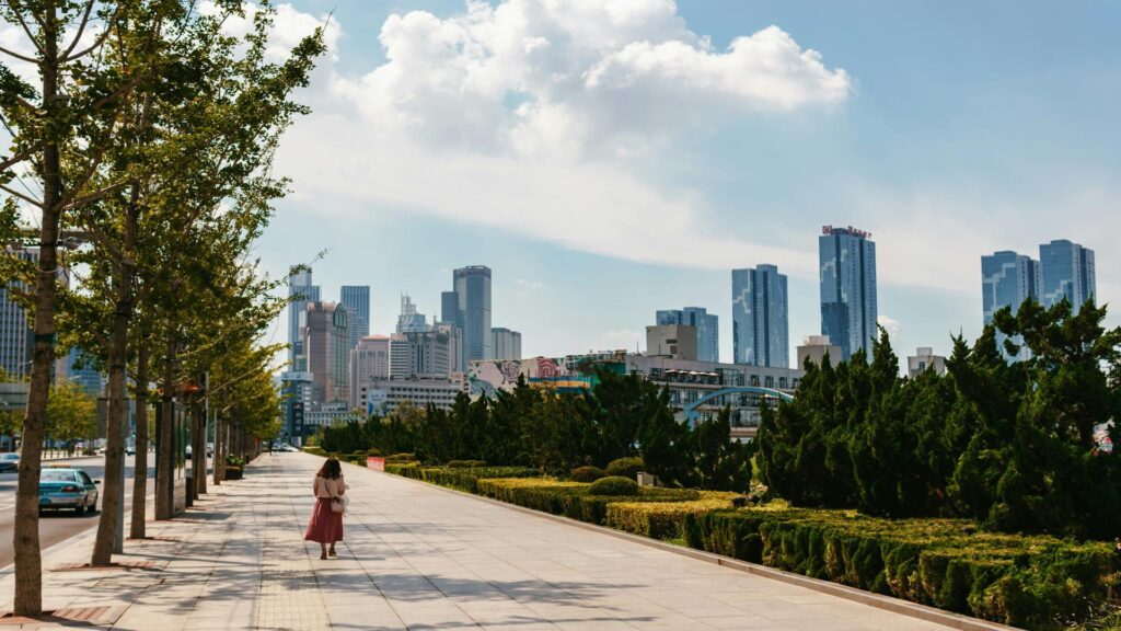
[[[349,465],[350,463],[343,463],[343,464]],[[960,631],[1021,631],[1016,627],[1008,627],[1006,624],[1000,624],[998,622],[990,622],[988,620],[971,618],[967,615],[962,615],[960,613],[943,611],[936,607],[912,603],[910,601],[904,601],[892,596],[884,596],[882,594],[865,592],[863,589],[858,589],[855,587],[850,587],[847,585],[842,585],[840,583],[831,583],[828,580],[822,580],[819,578],[810,578],[808,576],[803,576],[800,574],[794,574],[781,569],[775,569],[772,567],[742,561],[739,559],[733,559],[731,557],[724,557],[712,552],[705,552],[703,550],[695,550],[693,548],[674,546],[673,543],[666,543],[665,541],[658,541],[657,539],[649,539],[646,537],[640,537],[638,534],[632,534],[630,532],[614,530],[605,525],[587,523],[562,515],[554,515],[552,513],[544,513],[540,511],[535,511],[532,509],[527,509],[525,506],[519,506],[517,504],[509,504],[507,502],[501,502],[499,500],[493,500],[491,497],[483,497],[482,495],[474,495],[472,493],[465,493],[463,491],[457,491],[455,488],[447,488],[445,486],[429,484],[427,482],[413,479],[410,477],[404,477],[382,472],[374,472],[365,467],[360,467],[358,465],[350,465],[350,466],[373,474],[380,473],[381,475],[392,476],[395,479],[404,479],[415,484],[423,484],[429,488],[437,488],[446,493],[454,493],[456,495],[462,495],[464,497],[481,500],[483,502],[489,502],[493,505],[502,506],[512,511],[517,511],[519,513],[538,516],[541,519],[581,528],[592,532],[599,532],[600,534],[606,534],[609,537],[614,537],[615,539],[623,539],[626,541],[638,543],[640,546],[646,546],[648,548],[656,548],[658,550],[671,552],[683,557],[689,557],[692,559],[701,561],[711,563],[713,565],[719,565],[721,567],[745,571],[748,574],[753,574],[756,576],[760,576],[763,578],[780,580],[782,583],[796,585],[798,587],[805,587],[807,589],[813,589],[814,592],[828,594],[831,596],[836,596],[840,598],[844,598],[846,601],[856,602],[879,610],[897,613],[900,615],[906,615],[909,618],[915,618],[918,620],[923,620],[925,622],[932,622],[934,624],[941,624],[949,629],[957,629]]]

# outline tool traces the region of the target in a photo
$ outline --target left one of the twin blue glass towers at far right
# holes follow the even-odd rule
[[[997,311],[1006,307],[1016,313],[1028,299],[1040,302],[1043,282],[1043,268],[1030,256],[1010,250],[982,256],[981,304],[984,309],[984,323],[991,324]],[[997,331],[997,346],[1001,353],[1004,353],[1004,333]],[[1019,339],[1012,341],[1021,342]],[[1030,356],[1028,349],[1022,348],[1016,358],[1028,359]],[[1009,356],[1009,359],[1012,358]]]

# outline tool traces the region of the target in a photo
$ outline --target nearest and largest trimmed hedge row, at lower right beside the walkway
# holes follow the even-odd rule
[[[1029,629],[1084,620],[1118,570],[1106,543],[974,530],[782,505],[685,518],[696,549]]]

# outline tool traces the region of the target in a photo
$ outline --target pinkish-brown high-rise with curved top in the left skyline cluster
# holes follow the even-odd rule
[[[304,322],[307,372],[316,390],[314,403],[349,403],[346,309],[334,302],[309,302]]]

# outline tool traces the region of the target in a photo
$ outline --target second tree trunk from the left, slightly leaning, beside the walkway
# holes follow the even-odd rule
[[[112,335],[109,340],[109,419],[105,422],[105,475],[101,500],[101,519],[98,537],[93,542],[90,565],[109,565],[113,559],[113,540],[117,538],[117,513],[124,501],[124,377],[128,368],[129,323],[132,321],[132,259],[137,246],[137,225],[140,214],[140,185],[132,183],[129,205],[124,216],[124,238],[121,258],[117,262],[117,309],[113,310]],[[120,524],[124,528],[124,524]]]

